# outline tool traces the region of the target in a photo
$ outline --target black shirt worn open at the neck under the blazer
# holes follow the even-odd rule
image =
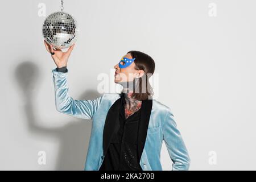
[[[119,110],[119,123],[99,171],[142,171],[138,161],[137,134],[141,109],[125,118],[125,98]]]

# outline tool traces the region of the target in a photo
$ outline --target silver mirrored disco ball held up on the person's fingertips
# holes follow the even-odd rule
[[[76,20],[63,11],[48,15],[42,29],[46,42],[59,49],[72,46],[79,32]]]

